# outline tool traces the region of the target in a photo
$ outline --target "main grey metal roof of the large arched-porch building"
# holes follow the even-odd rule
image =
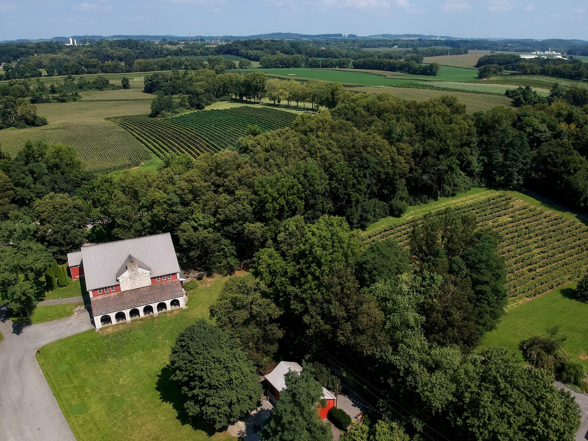
[[[88,290],[116,285],[116,273],[129,255],[151,268],[151,277],[180,272],[169,233],[84,246],[81,254]]]

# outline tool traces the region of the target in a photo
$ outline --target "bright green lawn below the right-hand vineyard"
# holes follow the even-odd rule
[[[569,283],[528,302],[509,306],[506,316],[495,330],[486,333],[480,347],[506,346],[520,353],[521,340],[544,334],[545,328],[557,325],[567,336],[564,349],[588,370],[588,303],[576,300],[574,288],[576,283]]]

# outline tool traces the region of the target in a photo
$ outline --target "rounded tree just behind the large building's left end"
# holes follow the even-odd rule
[[[37,237],[49,252],[64,262],[68,252],[79,250],[86,241],[88,205],[63,193],[49,193],[34,204],[39,220]]]

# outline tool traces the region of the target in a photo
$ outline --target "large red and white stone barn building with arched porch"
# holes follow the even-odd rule
[[[68,253],[68,266],[72,279],[85,279],[96,330],[186,308],[185,277],[169,233],[82,246]]]

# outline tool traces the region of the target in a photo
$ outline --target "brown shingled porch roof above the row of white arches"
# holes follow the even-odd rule
[[[92,315],[108,314],[135,306],[149,303],[162,302],[183,296],[182,284],[179,280],[155,283],[155,285],[143,286],[143,288],[118,291],[112,294],[93,296]]]

